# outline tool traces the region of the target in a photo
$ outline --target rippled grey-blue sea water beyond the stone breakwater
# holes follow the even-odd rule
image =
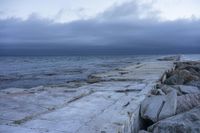
[[[106,72],[160,56],[33,56],[0,57],[0,89],[31,88],[86,80],[92,73]],[[200,55],[185,55],[185,60]]]

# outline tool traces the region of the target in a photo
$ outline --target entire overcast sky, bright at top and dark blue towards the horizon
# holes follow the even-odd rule
[[[200,52],[200,0],[0,0],[0,55]]]

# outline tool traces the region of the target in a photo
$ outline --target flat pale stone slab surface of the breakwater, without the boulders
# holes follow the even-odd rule
[[[173,67],[143,62],[93,75],[98,82],[80,87],[10,88],[0,91],[0,132],[133,132],[141,101]]]

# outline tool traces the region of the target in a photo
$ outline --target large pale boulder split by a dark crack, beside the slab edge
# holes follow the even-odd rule
[[[172,91],[167,95],[146,98],[141,104],[141,117],[157,122],[176,113],[177,94]]]

